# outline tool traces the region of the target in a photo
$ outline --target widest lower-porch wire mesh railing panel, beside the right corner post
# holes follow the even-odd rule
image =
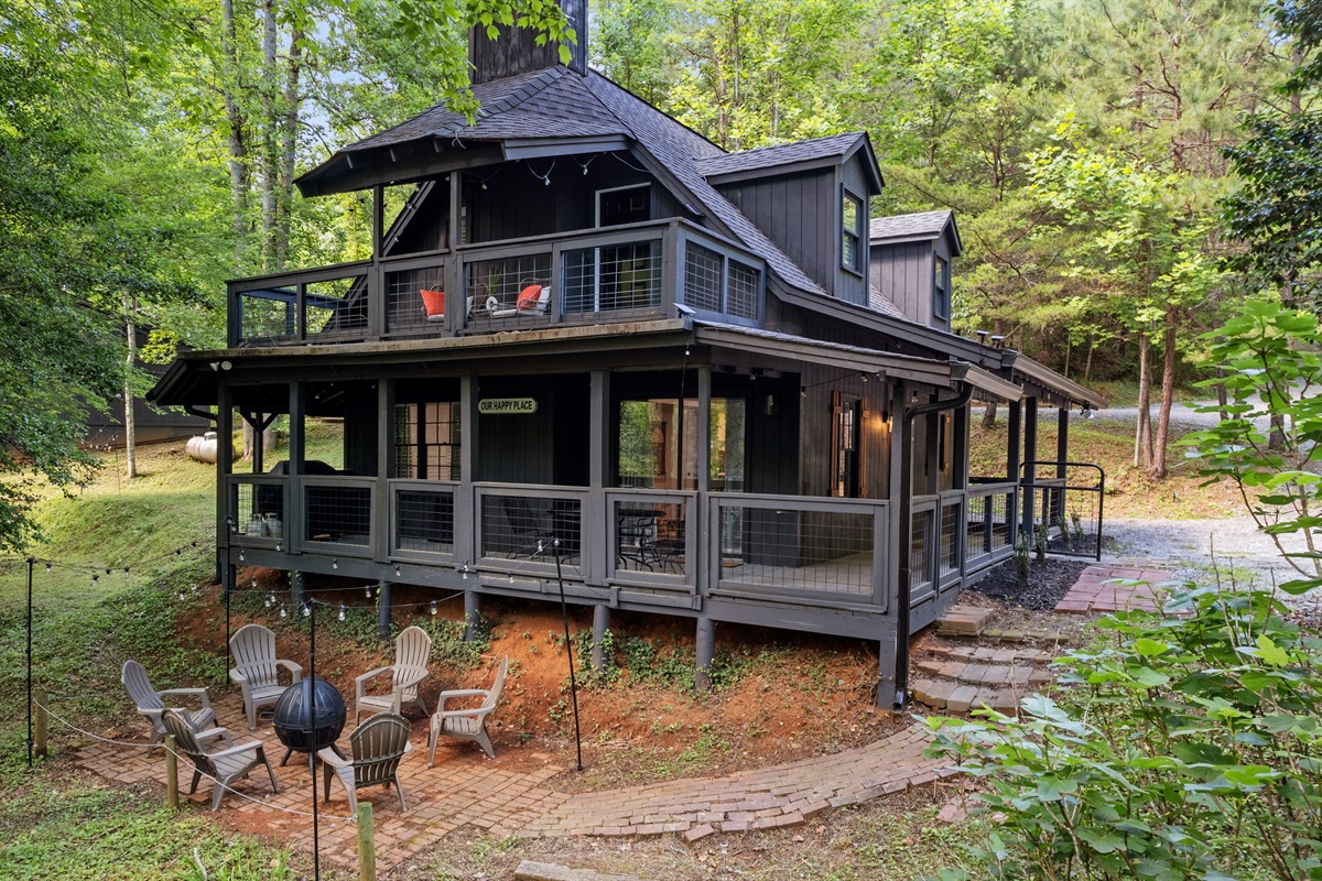
[[[719,507],[719,581],[871,598],[874,514]]]

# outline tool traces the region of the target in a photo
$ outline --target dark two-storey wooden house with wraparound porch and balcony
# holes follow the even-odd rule
[[[588,70],[564,8],[568,66],[473,38],[475,122],[438,106],[303,174],[373,193],[373,256],[231,281],[227,347],[153,390],[222,436],[290,420],[288,461],[222,445],[229,584],[242,559],[476,616],[562,575],[598,635],[690,618],[699,683],[718,622],[875,639],[891,707],[908,634],[1011,553],[1021,412],[1101,402],[910,314],[935,277],[871,289],[898,244],[865,133],[726,153]],[[974,398],[1009,404],[997,474],[969,474]]]

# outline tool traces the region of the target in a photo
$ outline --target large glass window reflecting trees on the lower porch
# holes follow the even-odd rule
[[[747,402],[711,402],[713,490],[744,489]],[[682,440],[681,440],[682,439]],[[698,402],[676,398],[621,400],[619,408],[617,483],[629,487],[694,490],[698,487]]]

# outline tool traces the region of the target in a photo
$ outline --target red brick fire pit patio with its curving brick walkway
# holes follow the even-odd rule
[[[270,722],[249,732],[241,721],[238,697],[233,695],[213,705],[219,719],[235,720],[237,725],[230,729],[235,744],[254,738],[266,744],[280,785],[280,793],[272,795],[264,770],[253,771],[234,789],[258,800],[230,793],[217,816],[243,829],[270,832],[288,847],[309,851],[312,790],[307,757],[295,753],[290,763],[280,767],[276,762],[284,756],[284,748]],[[341,742],[346,740],[348,730]],[[451,745],[443,740],[436,750],[436,766],[428,769],[426,726],[415,722],[414,750],[399,765],[408,811],[401,812],[394,791],[381,787],[362,790],[360,798],[373,804],[377,861],[382,870],[412,859],[460,827],[525,837],[677,832],[691,841],[717,831],[801,823],[828,807],[863,802],[948,775],[949,771],[940,770],[941,762],[923,758],[927,740],[924,729],[915,725],[863,748],[724,778],[570,795],[547,785],[562,767],[547,765],[533,773],[504,770],[498,754],[494,761],[486,759],[467,742]],[[546,756],[547,761],[550,758]],[[94,741],[75,750],[74,762],[119,783],[165,783],[165,759],[160,749],[148,757],[144,750]],[[186,759],[180,761],[178,775],[182,794],[192,779],[192,765]],[[210,795],[212,783],[204,779],[189,800],[205,810],[210,806]],[[332,782],[330,802],[319,802],[319,811],[321,859],[354,868],[356,828],[348,822],[348,799],[338,782]]]

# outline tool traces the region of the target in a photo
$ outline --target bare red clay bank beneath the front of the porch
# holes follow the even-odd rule
[[[286,576],[270,569],[241,569],[238,584],[251,589],[280,590],[288,600]],[[332,605],[341,601],[362,605],[361,592],[332,592],[353,581],[309,579],[312,596]],[[357,582],[361,584],[361,582]],[[436,596],[427,588],[397,585],[395,604],[426,604]],[[181,616],[182,634],[201,643],[223,639],[225,613],[219,604],[205,604],[205,614]],[[295,610],[290,610],[295,614]],[[439,604],[451,621],[463,617],[461,598]],[[370,616],[358,612],[358,616]],[[321,608],[320,616],[333,616]],[[476,668],[434,660],[432,675],[423,686],[431,705],[436,692],[448,688],[480,688],[490,684],[501,656],[510,659],[510,678],[501,708],[489,725],[501,765],[530,770],[547,763],[572,767],[574,719],[564,625],[558,605],[484,598],[483,616],[493,622],[490,649]],[[426,606],[407,609],[395,623],[407,626],[426,618]],[[259,621],[276,631],[282,656],[308,664],[305,629],[282,622],[278,609],[249,616],[238,610],[231,627]],[[286,626],[280,626],[284,623]],[[366,622],[364,622],[366,625]],[[591,609],[570,606],[570,631],[590,630]],[[693,623],[686,619],[635,613],[616,613],[616,660],[627,667],[619,650],[628,637],[645,638],[668,656],[674,649],[691,664]],[[694,696],[682,687],[640,682],[628,668],[609,684],[579,684],[579,726],[588,774],[567,775],[562,789],[599,789],[619,783],[642,783],[680,775],[726,774],[871,742],[907,724],[873,708],[878,675],[878,643],[834,637],[814,637],[760,627],[717,627],[718,662],[732,659],[736,671],[728,684]],[[366,649],[360,639],[329,633],[317,626],[317,675],[333,683],[345,701],[353,703],[353,678],[390,663],[393,646]],[[582,667],[580,667],[582,668]],[[415,738],[426,737],[426,717],[408,711]],[[471,746],[471,745],[467,745]],[[438,756],[440,759],[440,756]]]

